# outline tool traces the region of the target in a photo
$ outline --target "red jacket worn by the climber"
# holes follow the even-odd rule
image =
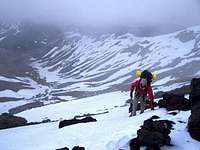
[[[140,87],[140,79],[135,80],[132,84],[131,84],[131,91],[133,92],[134,90],[140,94],[144,94],[146,91],[146,94],[148,96],[148,98],[150,99],[151,102],[153,102],[153,90],[151,85],[147,85],[146,90],[144,90],[143,88]],[[131,95],[132,96],[132,95]]]

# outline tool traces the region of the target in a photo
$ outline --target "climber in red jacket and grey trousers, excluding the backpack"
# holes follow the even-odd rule
[[[133,91],[135,90],[135,95],[133,99]],[[130,98],[131,98],[131,115],[130,116],[135,116],[136,115],[136,110],[137,110],[137,105],[138,102],[140,102],[140,113],[143,113],[146,107],[146,102],[147,99],[149,99],[149,107],[151,110],[153,110],[153,90],[151,87],[151,83],[147,82],[147,79],[145,78],[140,78],[135,80],[131,84],[131,91],[130,91]]]

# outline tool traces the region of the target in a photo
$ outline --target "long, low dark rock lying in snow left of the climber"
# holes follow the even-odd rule
[[[87,122],[96,122],[97,120],[92,117],[85,117],[83,119],[70,119],[70,120],[63,120],[59,123],[59,128],[63,128],[65,126],[77,124],[77,123],[87,123]]]

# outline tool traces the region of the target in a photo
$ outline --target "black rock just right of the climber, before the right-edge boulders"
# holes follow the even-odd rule
[[[183,110],[188,111],[191,109],[190,101],[184,98],[184,95],[176,95],[165,93],[163,100],[158,102],[160,108],[166,108],[168,111],[171,110]]]

